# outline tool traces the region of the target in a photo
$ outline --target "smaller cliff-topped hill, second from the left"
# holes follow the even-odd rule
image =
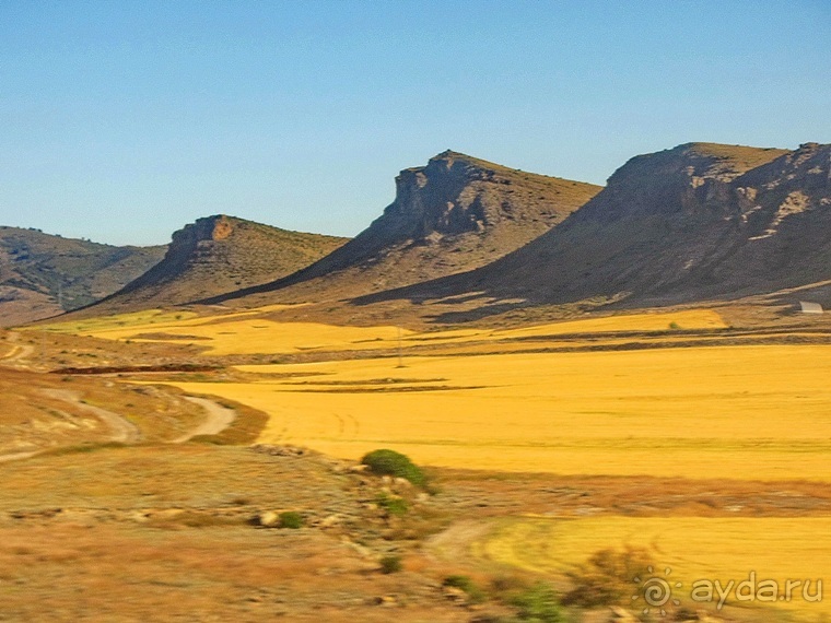
[[[199,219],[173,234],[161,262],[89,312],[184,305],[235,292],[305,268],[348,239],[226,215]]]

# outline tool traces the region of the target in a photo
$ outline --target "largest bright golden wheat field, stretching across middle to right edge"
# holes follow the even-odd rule
[[[264,380],[177,386],[268,412],[264,443],[344,458],[390,447],[471,469],[831,479],[826,346],[422,356],[405,366],[242,366]]]

